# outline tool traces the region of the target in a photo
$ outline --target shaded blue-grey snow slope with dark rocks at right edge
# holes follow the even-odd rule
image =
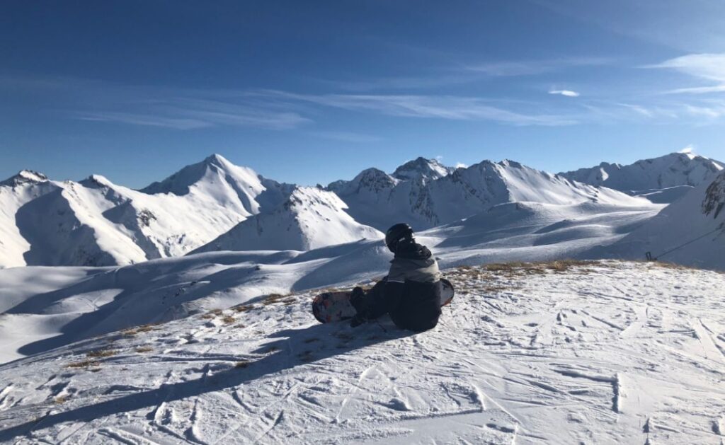
[[[721,172],[618,243],[593,249],[588,256],[641,259],[650,251],[665,261],[725,270],[724,206],[725,172]]]

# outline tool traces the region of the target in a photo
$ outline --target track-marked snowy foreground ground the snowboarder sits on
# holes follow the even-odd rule
[[[722,273],[451,268],[425,333],[268,295],[0,367],[12,444],[723,444]],[[355,283],[349,283],[352,286]]]

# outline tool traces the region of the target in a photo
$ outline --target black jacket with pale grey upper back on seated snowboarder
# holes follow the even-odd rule
[[[372,298],[365,315],[374,319],[388,312],[398,328],[434,328],[441,315],[440,279],[438,263],[426,246],[400,244],[388,276],[368,292]]]

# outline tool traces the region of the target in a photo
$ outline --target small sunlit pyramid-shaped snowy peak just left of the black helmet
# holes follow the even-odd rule
[[[296,188],[268,213],[240,222],[194,253],[215,250],[310,250],[383,234],[344,212],[336,194],[316,187]]]

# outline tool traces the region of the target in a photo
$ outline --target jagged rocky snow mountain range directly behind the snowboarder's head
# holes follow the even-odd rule
[[[435,180],[401,180],[377,169],[328,186],[345,201],[358,222],[385,230],[408,221],[418,230],[485,212],[496,204],[533,201],[545,204],[597,202],[642,205],[609,188],[576,183],[513,161],[484,161],[458,168]]]

